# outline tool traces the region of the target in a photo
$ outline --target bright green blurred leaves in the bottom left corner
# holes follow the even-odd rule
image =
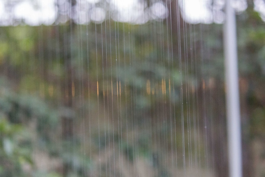
[[[23,165],[33,165],[26,127],[10,123],[3,113],[0,116],[0,175],[26,176]]]

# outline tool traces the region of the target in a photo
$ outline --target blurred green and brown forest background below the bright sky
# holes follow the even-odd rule
[[[54,24],[0,27],[0,176],[228,176],[223,25],[163,3],[143,24],[58,4]],[[244,177],[265,176],[262,18],[237,14]]]

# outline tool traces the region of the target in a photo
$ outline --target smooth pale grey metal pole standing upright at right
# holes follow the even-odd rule
[[[242,177],[236,21],[231,2],[231,0],[226,0],[226,18],[223,29],[229,176]]]

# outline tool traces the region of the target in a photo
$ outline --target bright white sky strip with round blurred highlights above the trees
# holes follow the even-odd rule
[[[265,20],[264,1],[251,3],[252,8]],[[1,0],[0,25],[52,25],[69,20],[89,24],[101,23],[109,18],[118,22],[144,24],[150,20],[163,20],[177,9],[188,23],[220,24],[224,20],[224,4],[224,0]],[[247,0],[235,0],[233,7],[240,14],[248,7]]]

